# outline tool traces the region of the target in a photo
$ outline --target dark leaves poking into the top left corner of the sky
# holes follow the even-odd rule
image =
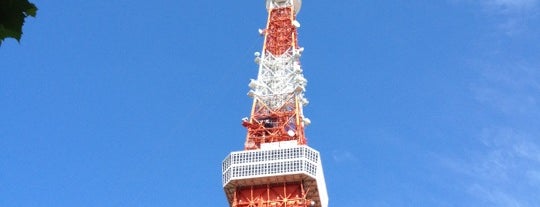
[[[5,38],[20,41],[24,19],[36,12],[36,5],[28,0],[0,0],[0,45]]]

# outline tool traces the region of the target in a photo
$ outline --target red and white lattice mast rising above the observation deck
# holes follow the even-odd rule
[[[261,144],[297,140],[306,144],[302,106],[307,80],[302,74],[298,46],[295,8],[299,0],[267,1],[268,25],[262,34],[265,44],[262,54],[256,54],[259,64],[257,80],[251,80],[248,95],[253,97],[251,118],[244,119],[248,134],[245,149],[259,149]],[[296,4],[295,4],[296,3]],[[298,5],[298,7],[296,7]]]

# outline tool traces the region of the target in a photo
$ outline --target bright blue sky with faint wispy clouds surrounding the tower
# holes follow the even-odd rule
[[[0,206],[227,206],[263,0],[42,1],[0,47]],[[330,206],[540,206],[539,0],[305,0]]]

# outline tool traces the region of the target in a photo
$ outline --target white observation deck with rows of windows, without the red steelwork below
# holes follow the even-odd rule
[[[231,201],[239,186],[302,182],[316,207],[328,206],[320,155],[296,141],[265,143],[261,149],[237,151],[222,163],[223,187]]]

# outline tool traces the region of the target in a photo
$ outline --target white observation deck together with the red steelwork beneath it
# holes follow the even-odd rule
[[[327,207],[319,152],[296,141],[237,151],[222,163],[231,207]]]

